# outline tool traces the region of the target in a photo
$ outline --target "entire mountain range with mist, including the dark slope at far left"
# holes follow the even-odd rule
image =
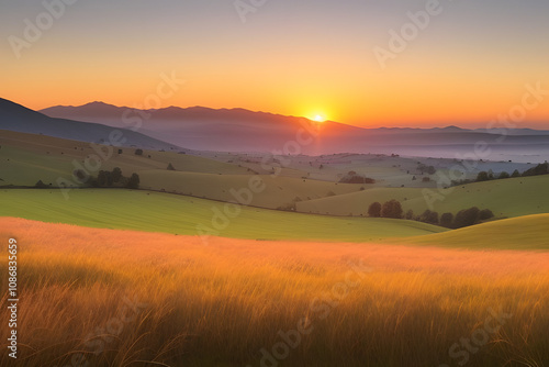
[[[126,145],[150,149],[309,155],[374,153],[525,162],[549,158],[549,132],[529,129],[508,130],[505,135],[495,129],[458,126],[362,129],[244,109],[139,110],[103,102],[33,111],[0,99],[0,129],[104,142],[113,127],[124,133]]]

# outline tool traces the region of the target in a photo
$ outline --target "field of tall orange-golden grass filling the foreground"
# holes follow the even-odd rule
[[[21,367],[549,365],[546,252],[204,246],[2,218],[2,281],[10,237]],[[10,363],[2,353],[0,365]]]

